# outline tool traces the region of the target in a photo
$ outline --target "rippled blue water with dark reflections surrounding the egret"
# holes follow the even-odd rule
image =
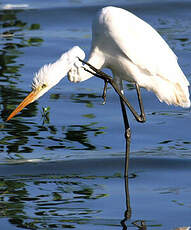
[[[142,90],[147,122],[132,129],[126,207],[119,100],[103,82],[64,78],[11,122],[33,73],[79,45],[88,54],[91,20],[107,1],[0,2],[0,217],[3,229],[175,229],[191,225],[190,110]],[[12,2],[10,2],[13,4]],[[20,7],[16,4],[21,4]],[[191,81],[190,1],[111,1],[140,16],[168,42]],[[9,8],[9,9],[8,9]],[[136,105],[136,92],[127,96]],[[50,107],[48,119],[43,107]],[[122,222],[121,222],[122,221]],[[125,224],[125,225],[124,225]],[[139,222],[140,224],[140,222]]]

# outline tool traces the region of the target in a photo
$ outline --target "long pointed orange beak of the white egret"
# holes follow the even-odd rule
[[[25,99],[20,103],[20,105],[9,115],[6,121],[9,121],[13,118],[18,112],[25,108],[28,104],[32,103],[39,98],[39,90],[35,89]]]

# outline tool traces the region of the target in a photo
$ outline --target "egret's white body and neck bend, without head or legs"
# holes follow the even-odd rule
[[[111,69],[117,82],[136,82],[152,90],[160,101],[190,107],[189,82],[176,55],[156,30],[124,9],[110,6],[98,12],[87,62],[97,69]],[[91,76],[79,64],[69,71],[75,82]]]

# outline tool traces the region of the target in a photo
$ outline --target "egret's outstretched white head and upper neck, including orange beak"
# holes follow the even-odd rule
[[[44,65],[33,78],[32,91],[9,115],[6,121],[9,121],[28,104],[36,101],[55,86],[68,73],[78,58],[84,59],[85,53],[78,46],[75,46],[53,64]]]

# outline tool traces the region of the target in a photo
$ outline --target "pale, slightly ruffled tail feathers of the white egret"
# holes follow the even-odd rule
[[[162,80],[157,82],[155,88],[152,89],[160,101],[166,102],[168,105],[176,105],[184,108],[190,107],[189,85],[178,82],[169,82]]]

